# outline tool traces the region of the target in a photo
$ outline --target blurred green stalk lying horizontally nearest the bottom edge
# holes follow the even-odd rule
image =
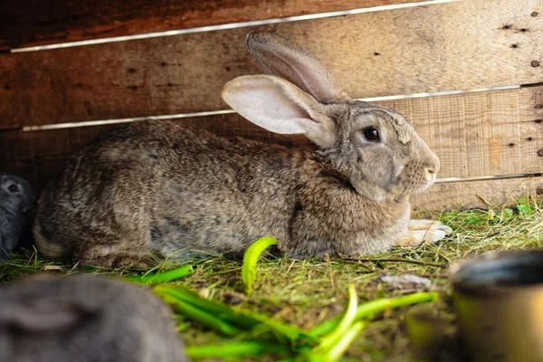
[[[191,358],[257,357],[264,353],[288,352],[286,346],[271,344],[269,341],[247,341],[211,346],[187,346],[186,355]]]

